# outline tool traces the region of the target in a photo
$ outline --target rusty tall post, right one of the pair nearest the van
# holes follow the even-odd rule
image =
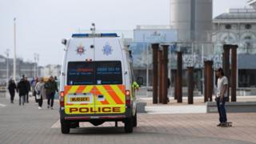
[[[168,47],[162,45],[162,103],[167,104]]]

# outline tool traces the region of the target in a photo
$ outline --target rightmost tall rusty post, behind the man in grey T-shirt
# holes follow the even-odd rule
[[[231,102],[237,102],[237,49],[238,45],[231,46]]]

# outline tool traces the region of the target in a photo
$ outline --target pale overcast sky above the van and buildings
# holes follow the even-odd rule
[[[213,0],[213,17],[228,8],[243,8],[247,0]],[[248,7],[248,6],[247,6]],[[118,30],[128,33],[137,25],[168,25],[170,0],[0,0],[0,54],[14,52],[26,62],[39,54],[39,65],[61,64],[62,38],[79,30]]]

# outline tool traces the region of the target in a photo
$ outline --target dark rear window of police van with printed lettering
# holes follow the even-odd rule
[[[67,85],[122,84],[120,61],[69,62]]]

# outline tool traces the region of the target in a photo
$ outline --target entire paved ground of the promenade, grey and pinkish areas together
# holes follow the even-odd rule
[[[114,122],[94,127],[82,123],[71,134],[61,134],[58,122],[58,105],[54,110],[38,110],[33,102],[26,106],[6,105],[0,108],[0,144],[49,144],[49,143],[253,143],[256,142],[256,114],[229,114],[234,127],[218,128],[217,114],[138,114],[138,127],[133,134],[114,128]],[[111,126],[111,127],[110,127]]]

